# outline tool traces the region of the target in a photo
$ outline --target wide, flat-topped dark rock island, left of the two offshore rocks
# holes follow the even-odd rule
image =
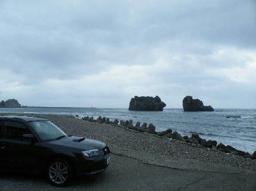
[[[161,101],[160,97],[134,96],[131,98],[129,110],[131,111],[163,111],[166,104]]]

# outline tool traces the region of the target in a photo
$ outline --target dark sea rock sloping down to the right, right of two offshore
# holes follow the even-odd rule
[[[183,101],[184,112],[213,112],[212,106],[204,106],[203,101],[199,99],[193,99],[192,96],[185,96]]]

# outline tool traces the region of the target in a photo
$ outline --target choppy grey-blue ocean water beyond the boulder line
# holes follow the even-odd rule
[[[79,117],[98,116],[120,120],[152,123],[156,131],[171,128],[181,135],[200,134],[201,138],[216,140],[252,154],[256,150],[256,109],[215,109],[214,112],[183,112],[164,109],[163,112],[138,112],[113,108],[0,108],[0,112],[72,114]],[[229,118],[226,118],[230,116]]]

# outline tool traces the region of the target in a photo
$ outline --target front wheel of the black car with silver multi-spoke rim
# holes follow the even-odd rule
[[[72,180],[73,169],[67,160],[55,159],[48,163],[46,175],[52,185],[65,186]]]

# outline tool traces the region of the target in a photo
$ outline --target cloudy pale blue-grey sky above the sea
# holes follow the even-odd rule
[[[256,108],[255,1],[0,1],[0,99]],[[1,101],[0,100],[0,101]]]

